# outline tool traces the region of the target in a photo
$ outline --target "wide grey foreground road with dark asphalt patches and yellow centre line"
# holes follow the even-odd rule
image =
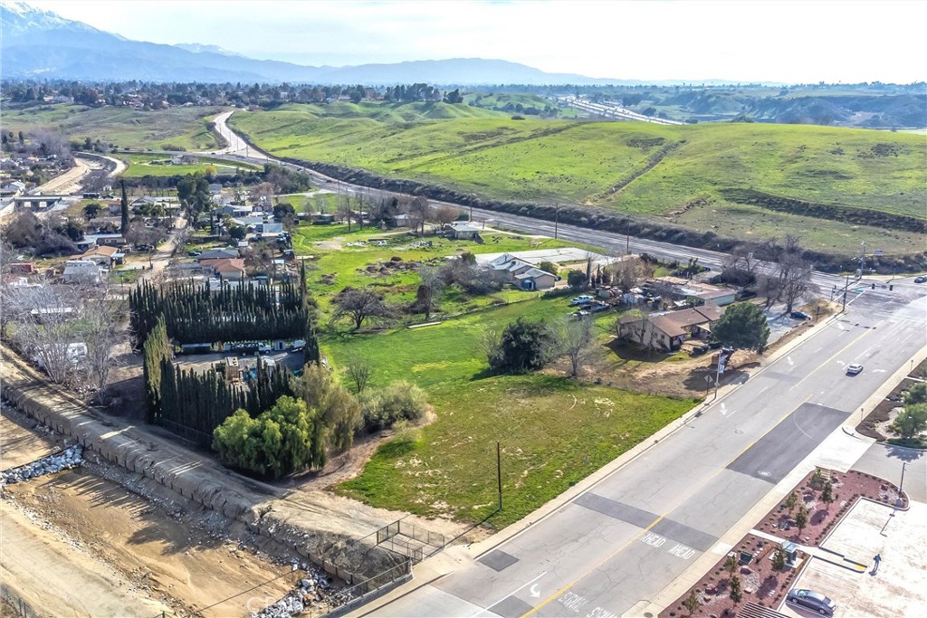
[[[892,310],[866,296],[550,516],[375,615],[607,617],[654,599],[924,346],[923,296]],[[866,369],[846,376],[850,362]]]

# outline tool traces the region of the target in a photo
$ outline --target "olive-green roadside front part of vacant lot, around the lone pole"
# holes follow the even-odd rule
[[[694,401],[548,375],[460,379],[429,389],[438,419],[379,448],[338,493],[378,507],[502,528],[690,410]]]

